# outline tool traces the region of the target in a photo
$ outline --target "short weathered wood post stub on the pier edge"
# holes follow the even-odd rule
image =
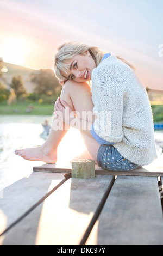
[[[95,178],[95,160],[79,159],[72,161],[72,178]]]

